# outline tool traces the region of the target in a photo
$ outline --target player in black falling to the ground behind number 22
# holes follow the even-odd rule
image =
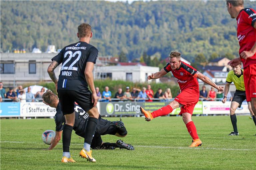
[[[49,146],[49,150],[53,149],[61,139],[61,134],[63,131],[65,117],[61,111],[61,106],[59,103],[58,97],[51,91],[43,94],[43,102],[50,107],[56,109],[56,114],[54,116],[54,121],[56,124],[56,132],[55,137]],[[75,105],[75,124],[73,130],[75,130],[76,134],[83,137],[86,133],[86,124],[88,121],[88,113],[86,113],[79,105]],[[92,149],[127,149],[134,150],[134,147],[130,144],[124,143],[122,140],[117,140],[116,143],[103,142],[101,139],[101,135],[112,134],[118,137],[125,137],[127,135],[127,130],[124,127],[124,123],[121,121],[110,122],[108,120],[99,118],[99,123],[97,125],[94,137],[92,139],[91,148]]]

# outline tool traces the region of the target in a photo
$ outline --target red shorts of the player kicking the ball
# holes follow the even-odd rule
[[[194,89],[182,90],[182,92],[175,97],[174,100],[183,105],[180,108],[179,115],[182,115],[183,113],[190,113],[192,115],[194,108],[199,101],[199,91]]]

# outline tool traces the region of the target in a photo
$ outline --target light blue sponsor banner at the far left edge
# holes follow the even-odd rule
[[[1,102],[0,117],[19,117],[20,103],[19,102]]]

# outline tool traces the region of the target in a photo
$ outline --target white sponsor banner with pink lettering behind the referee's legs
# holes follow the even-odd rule
[[[203,114],[229,114],[231,101],[223,104],[221,101],[204,101],[203,102]],[[248,114],[250,113],[248,109],[247,102],[243,102],[241,108],[237,108],[237,114]]]

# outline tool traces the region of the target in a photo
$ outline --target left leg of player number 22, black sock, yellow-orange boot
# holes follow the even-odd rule
[[[62,133],[62,143],[63,143],[63,157],[61,162],[75,162],[69,153],[69,146],[71,141],[71,134],[73,130],[73,126],[75,124],[75,112],[71,114],[64,115],[65,116],[65,125]]]

